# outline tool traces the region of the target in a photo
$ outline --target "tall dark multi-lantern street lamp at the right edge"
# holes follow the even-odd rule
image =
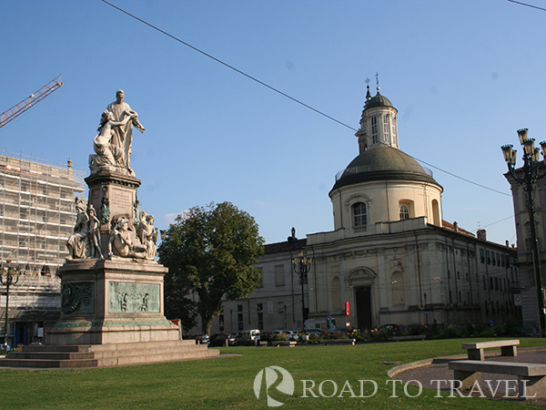
[[[529,221],[531,223],[531,253],[532,253],[532,267],[537,285],[537,302],[539,307],[539,331],[541,337],[544,337],[545,320],[545,303],[544,303],[544,290],[542,288],[541,277],[541,259],[539,255],[539,243],[537,241],[537,232],[535,224],[535,210],[532,199],[532,191],[535,190],[534,183],[546,176],[546,172],[543,174],[539,171],[539,163],[541,155],[544,157],[546,154],[546,141],[541,142],[541,149],[535,148],[534,139],[528,138],[527,128],[518,130],[518,137],[520,138],[520,144],[523,148],[523,168],[520,173],[522,176],[518,178],[516,176],[516,150],[512,149],[512,145],[505,145],[501,147],[504,154],[504,160],[508,165],[508,170],[511,177],[519,184],[523,184],[523,190],[527,192],[527,211],[529,213]],[[546,163],[546,158],[544,159]]]

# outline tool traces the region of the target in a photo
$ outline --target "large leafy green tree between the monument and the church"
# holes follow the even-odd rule
[[[197,313],[210,334],[221,312],[222,298],[247,297],[256,290],[261,273],[250,266],[264,251],[258,224],[230,202],[195,207],[177,216],[159,246],[160,261],[169,269],[165,282],[168,303],[197,293]]]

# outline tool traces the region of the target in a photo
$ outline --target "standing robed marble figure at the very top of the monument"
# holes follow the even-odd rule
[[[108,104],[106,111],[111,112],[114,115],[114,121],[123,121],[128,116],[133,116],[131,121],[126,122],[121,127],[114,128],[114,136],[112,137],[111,144],[121,150],[125,154],[124,166],[131,171],[131,145],[133,143],[133,126],[140,132],[144,132],[145,128],[138,122],[137,114],[132,110],[129,105],[124,101],[125,93],[122,89],[118,89],[116,92],[116,101]]]

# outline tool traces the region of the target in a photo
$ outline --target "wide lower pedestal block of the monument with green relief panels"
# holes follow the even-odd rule
[[[61,318],[45,343],[105,344],[178,340],[167,321],[163,276],[156,261],[84,259],[66,261],[61,275]]]

